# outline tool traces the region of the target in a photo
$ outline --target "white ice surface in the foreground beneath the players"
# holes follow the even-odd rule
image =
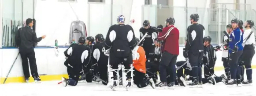
[[[256,69],[253,71],[255,72]],[[223,71],[215,72],[218,76],[223,73]],[[253,79],[256,80],[255,75]],[[111,91],[107,86],[95,83],[78,83],[77,86],[64,87],[62,84],[57,85],[58,82],[1,84],[0,96],[256,96],[254,86],[227,87],[223,82],[216,85],[204,84],[203,88],[178,86],[174,90],[134,86],[130,91],[124,88]]]

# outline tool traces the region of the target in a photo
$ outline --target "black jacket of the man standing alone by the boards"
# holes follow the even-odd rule
[[[29,26],[19,28],[15,34],[16,45],[22,52],[33,51],[35,43],[41,40],[42,38],[37,38],[36,32]]]

